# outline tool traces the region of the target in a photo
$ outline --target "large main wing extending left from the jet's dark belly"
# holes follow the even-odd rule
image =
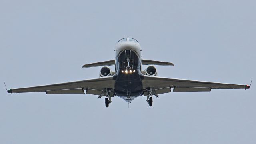
[[[113,76],[107,76],[76,82],[10,89],[8,93],[46,92],[46,94],[84,94],[84,90],[86,90],[86,93],[89,92],[88,94],[100,95],[105,88],[114,89],[114,82]]]

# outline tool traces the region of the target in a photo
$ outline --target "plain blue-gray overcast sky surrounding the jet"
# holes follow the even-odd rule
[[[98,77],[82,65],[114,59],[136,38],[144,59],[171,78],[256,81],[255,0],[0,0],[1,144],[255,144],[256,82],[250,90],[169,93],[109,108],[94,95],[7,94]],[[145,67],[144,67],[145,68]]]

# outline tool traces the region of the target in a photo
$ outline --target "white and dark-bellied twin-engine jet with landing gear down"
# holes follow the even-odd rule
[[[8,93],[46,92],[46,94],[93,94],[105,98],[105,106],[118,96],[130,103],[138,96],[145,96],[149,106],[153,104],[153,96],[169,92],[210,92],[212,89],[249,89],[249,85],[224,84],[159,77],[156,67],[174,66],[171,62],[144,60],[140,43],[134,38],[122,38],[115,46],[115,59],[104,62],[85,64],[82,68],[102,66],[99,78],[17,88],[7,90]],[[112,71],[108,66],[115,66]],[[148,65],[142,71],[142,65]]]

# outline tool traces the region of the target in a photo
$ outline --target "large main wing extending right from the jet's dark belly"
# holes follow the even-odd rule
[[[224,84],[216,82],[202,82],[195,80],[182,80],[174,78],[163,78],[156,76],[144,76],[142,80],[143,88],[152,87],[157,94],[170,92],[208,92],[211,89],[249,89],[248,85]],[[160,93],[158,93],[159,91]]]

